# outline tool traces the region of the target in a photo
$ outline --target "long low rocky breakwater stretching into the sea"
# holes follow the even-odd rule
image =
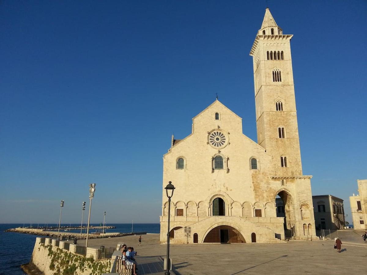
[[[96,228],[96,227],[94,227]],[[32,234],[32,235],[39,235],[39,236],[49,236],[49,237],[57,237],[57,231],[45,231],[44,229],[35,229],[35,228],[10,228],[5,230],[5,232],[17,232],[17,233],[24,233],[24,234]],[[110,237],[121,237],[127,235],[135,235],[137,233],[90,233],[88,239],[97,239],[97,238],[110,238]],[[80,233],[72,233],[72,232],[59,232],[59,236],[61,239],[80,239]],[[81,234],[81,239],[86,239],[87,234]]]

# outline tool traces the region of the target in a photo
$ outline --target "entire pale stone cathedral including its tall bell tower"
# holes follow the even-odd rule
[[[172,243],[315,239],[312,176],[302,174],[290,40],[267,8],[250,56],[257,143],[242,119],[215,100],[163,156],[160,241],[167,241],[168,181]]]

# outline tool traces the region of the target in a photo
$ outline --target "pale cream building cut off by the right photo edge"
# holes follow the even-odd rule
[[[354,229],[367,229],[367,180],[357,180],[358,195],[349,197]]]

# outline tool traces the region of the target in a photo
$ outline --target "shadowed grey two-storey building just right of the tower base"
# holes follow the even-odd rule
[[[344,204],[332,195],[312,196],[316,229],[342,229],[345,227]]]

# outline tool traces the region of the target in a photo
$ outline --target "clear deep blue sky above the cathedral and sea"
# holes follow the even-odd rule
[[[268,1],[291,40],[302,164],[345,200],[366,170],[366,1]],[[158,223],[171,134],[215,100],[257,140],[266,1],[1,1],[0,223]]]

